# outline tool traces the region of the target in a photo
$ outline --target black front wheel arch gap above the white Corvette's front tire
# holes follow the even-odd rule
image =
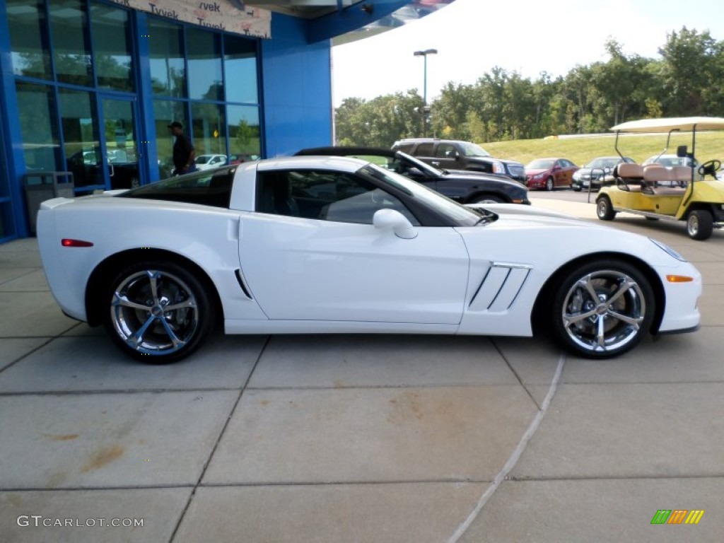
[[[543,286],[538,292],[535,303],[533,305],[533,311],[531,311],[531,327],[534,334],[546,332],[547,328],[550,327],[550,322],[547,319],[547,311],[552,303],[552,299],[555,296],[558,284],[563,277],[570,274],[573,270],[578,267],[589,264],[593,260],[619,260],[624,261],[631,266],[635,266],[644,277],[648,280],[649,284],[654,290],[655,307],[654,307],[654,318],[651,323],[649,332],[656,334],[661,326],[661,321],[664,317],[664,308],[666,306],[666,296],[664,292],[664,286],[662,285],[661,279],[652,269],[646,261],[637,258],[636,256],[629,255],[626,253],[615,253],[615,252],[604,252],[604,253],[591,253],[578,258],[574,258],[563,266],[552,272],[548,279],[544,282]]]

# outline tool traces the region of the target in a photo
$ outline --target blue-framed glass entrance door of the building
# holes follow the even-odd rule
[[[101,133],[106,148],[106,187],[133,188],[140,182],[138,115],[133,98],[101,97]]]

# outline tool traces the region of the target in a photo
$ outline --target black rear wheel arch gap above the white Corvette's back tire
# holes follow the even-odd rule
[[[103,311],[105,311],[106,306],[100,303],[100,296],[114,274],[129,264],[153,260],[169,261],[189,269],[196,279],[202,283],[206,292],[211,297],[211,303],[214,304],[214,310],[216,311],[216,322],[223,323],[224,306],[219,297],[219,292],[214,286],[214,282],[211,281],[209,274],[207,274],[201,266],[198,266],[198,264],[189,258],[178,253],[165,249],[148,248],[129,249],[127,251],[121,251],[120,253],[114,253],[105,258],[104,261],[101,261],[96,268],[93,269],[93,272],[88,278],[88,284],[85,287],[85,315],[89,326],[97,327],[103,324]]]

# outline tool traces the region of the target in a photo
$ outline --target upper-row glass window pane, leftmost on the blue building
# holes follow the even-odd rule
[[[7,0],[12,70],[15,75],[51,78],[42,1]]]

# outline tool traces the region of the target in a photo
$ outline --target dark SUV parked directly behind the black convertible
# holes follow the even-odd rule
[[[474,172],[506,175],[521,183],[526,182],[525,167],[514,160],[495,159],[476,143],[437,138],[411,138],[399,140],[392,146],[416,156],[427,164],[442,169],[469,169]]]

